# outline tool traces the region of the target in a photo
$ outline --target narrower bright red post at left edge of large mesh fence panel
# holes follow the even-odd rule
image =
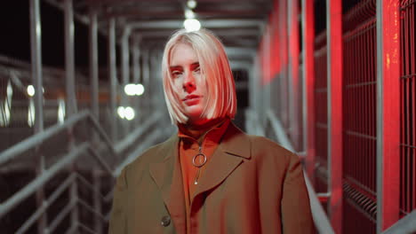
[[[342,232],[342,8],[340,0],[326,0],[328,48],[328,203],[335,233]]]

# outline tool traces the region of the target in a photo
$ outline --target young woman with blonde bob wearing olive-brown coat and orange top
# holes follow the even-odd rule
[[[178,133],[117,179],[109,233],[312,233],[298,156],[232,123],[236,89],[220,40],[176,32],[164,96]]]

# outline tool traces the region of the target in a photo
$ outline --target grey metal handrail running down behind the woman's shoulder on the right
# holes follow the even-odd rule
[[[270,121],[272,129],[275,132],[276,140],[279,144],[292,152],[294,152],[294,148],[289,140],[289,137],[284,134],[284,128],[281,122],[277,119],[275,113],[271,110],[267,111],[268,121]],[[331,222],[328,219],[328,216],[324,212],[324,208],[321,206],[319,199],[316,196],[316,192],[309,181],[308,175],[306,172],[303,173],[305,177],[305,183],[307,184],[309,200],[310,200],[310,208],[312,211],[312,217],[314,219],[316,230],[319,233],[335,233],[332,229]]]

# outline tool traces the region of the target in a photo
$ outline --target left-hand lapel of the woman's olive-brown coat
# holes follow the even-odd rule
[[[178,137],[172,136],[166,141],[159,153],[165,155],[164,160],[151,164],[149,172],[162,193],[164,205],[171,215],[175,229],[178,233],[185,233],[185,195],[178,160]]]

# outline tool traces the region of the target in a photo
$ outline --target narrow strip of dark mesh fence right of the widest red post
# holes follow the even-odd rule
[[[416,209],[416,1],[400,5],[400,215]]]

